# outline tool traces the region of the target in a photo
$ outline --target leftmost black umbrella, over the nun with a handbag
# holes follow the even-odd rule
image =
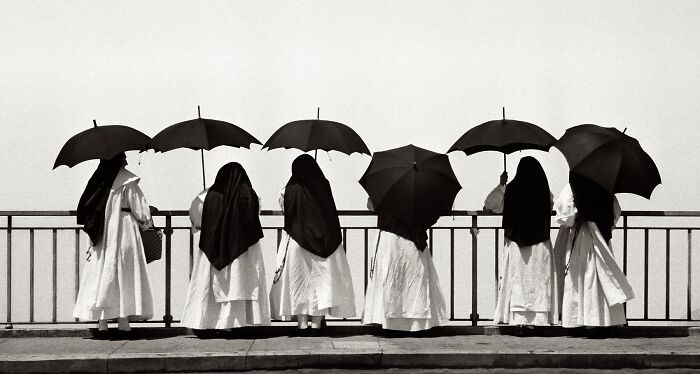
[[[126,151],[143,151],[151,139],[148,135],[123,125],[97,126],[73,135],[58,152],[53,168],[66,165],[69,168],[95,159],[109,160]]]

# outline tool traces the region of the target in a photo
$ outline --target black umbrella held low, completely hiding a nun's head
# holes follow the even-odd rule
[[[422,226],[449,215],[462,189],[447,155],[412,144],[375,152],[360,184],[375,212]]]

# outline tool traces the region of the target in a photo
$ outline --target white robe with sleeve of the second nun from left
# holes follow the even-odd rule
[[[190,206],[193,233],[201,229],[207,191],[199,193]],[[198,248],[180,325],[204,330],[269,324],[270,306],[260,242],[221,270],[212,266]]]

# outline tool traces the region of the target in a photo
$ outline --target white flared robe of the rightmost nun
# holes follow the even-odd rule
[[[610,243],[594,222],[575,223],[576,207],[567,184],[554,203],[561,224],[555,244],[560,279],[562,326],[615,326],[626,322],[623,303],[635,295],[615,262]],[[615,199],[615,220],[619,218]],[[580,226],[574,243],[574,231]]]

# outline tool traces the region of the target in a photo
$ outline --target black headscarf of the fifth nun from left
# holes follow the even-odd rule
[[[503,198],[505,237],[526,247],[549,240],[552,196],[547,175],[534,157],[523,157]]]

